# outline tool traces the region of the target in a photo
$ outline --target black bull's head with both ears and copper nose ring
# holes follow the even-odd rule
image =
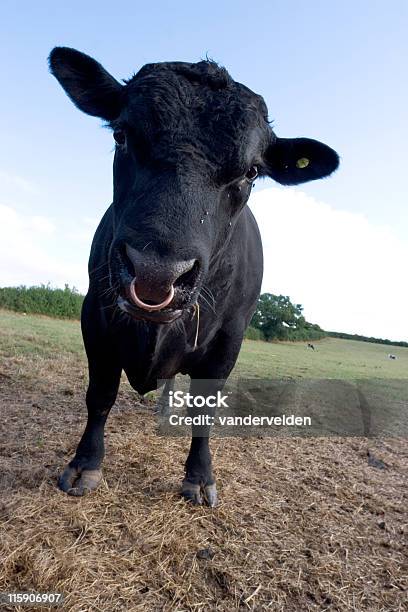
[[[338,166],[316,140],[278,138],[262,97],[214,62],[147,64],[121,84],[57,47],[50,67],[80,110],[112,128],[109,270],[136,318],[170,322],[196,302],[258,176],[296,185]]]

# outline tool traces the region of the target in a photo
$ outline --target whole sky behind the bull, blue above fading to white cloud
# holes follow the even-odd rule
[[[307,317],[333,329],[407,338],[405,317],[394,310],[390,321],[378,297],[392,292],[387,299],[401,311],[408,299],[405,0],[3,0],[0,14],[0,285],[66,278],[86,289],[89,241],[111,201],[111,135],[76,110],[49,75],[52,47],[78,48],[117,78],[146,62],[208,54],[264,96],[278,135],[321,139],[342,157],[334,177],[292,195],[272,181],[258,183],[254,210],[261,200],[267,208],[259,213],[264,290],[289,292]],[[293,210],[303,214],[300,234],[288,216]],[[276,219],[287,225],[285,242]],[[334,274],[338,283],[328,283]]]

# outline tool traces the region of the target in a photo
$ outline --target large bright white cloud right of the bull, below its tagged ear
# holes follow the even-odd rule
[[[253,194],[264,245],[263,291],[289,295],[330,330],[407,339],[408,244],[360,214],[293,188]]]

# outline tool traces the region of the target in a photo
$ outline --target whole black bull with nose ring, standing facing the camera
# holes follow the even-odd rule
[[[211,61],[147,64],[124,84],[67,47],[49,63],[116,143],[113,203],[92,243],[81,318],[88,421],[59,479],[63,491],[83,495],[102,478],[104,426],[122,371],[141,394],[183,373],[193,396],[208,396],[234,367],[262,280],[261,239],[246,205],[254,180],[319,179],[338,156],[316,140],[278,138],[262,97]],[[209,428],[193,426],[182,495],[217,501]]]

